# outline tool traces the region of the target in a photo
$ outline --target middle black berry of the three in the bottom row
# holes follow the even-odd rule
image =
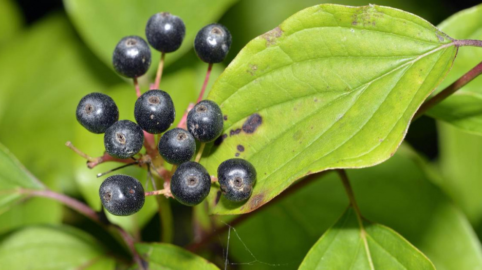
[[[171,178],[171,193],[182,204],[193,206],[208,196],[211,177],[201,164],[188,161],[179,165]]]

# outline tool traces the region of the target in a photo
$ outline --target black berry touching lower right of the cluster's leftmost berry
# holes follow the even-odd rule
[[[129,120],[120,120],[104,134],[105,151],[117,158],[130,158],[139,153],[144,143],[141,127]]]

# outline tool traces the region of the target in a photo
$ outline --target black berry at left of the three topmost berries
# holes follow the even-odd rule
[[[114,69],[122,76],[136,78],[151,66],[151,49],[140,36],[122,38],[112,55]]]

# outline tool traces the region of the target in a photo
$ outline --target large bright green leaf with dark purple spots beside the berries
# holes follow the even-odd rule
[[[456,52],[427,21],[374,5],[311,7],[255,38],[211,90],[232,136],[202,162],[213,173],[239,155],[258,179],[244,204],[212,192],[212,213],[247,213],[305,175],[388,159]]]

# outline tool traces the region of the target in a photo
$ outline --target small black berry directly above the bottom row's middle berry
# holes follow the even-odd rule
[[[181,164],[194,156],[196,141],[187,130],[175,128],[162,135],[157,148],[165,161]]]

